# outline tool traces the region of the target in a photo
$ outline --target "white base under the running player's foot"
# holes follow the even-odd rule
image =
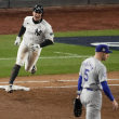
[[[8,91],[8,85],[0,85],[0,89]],[[12,89],[14,91],[29,91],[30,88],[19,87],[19,85],[13,85]]]

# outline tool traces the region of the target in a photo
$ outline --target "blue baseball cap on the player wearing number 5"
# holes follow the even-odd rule
[[[95,52],[113,53],[113,51],[109,51],[109,48],[106,44],[96,45]]]

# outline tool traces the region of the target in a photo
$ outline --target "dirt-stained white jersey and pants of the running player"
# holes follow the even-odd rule
[[[29,48],[31,44],[42,43],[45,39],[53,41],[54,35],[51,25],[44,19],[39,24],[35,24],[32,16],[27,16],[24,19],[23,26],[26,28],[26,31],[17,52],[16,64],[23,66],[25,63],[25,69],[30,71],[40,56],[41,48],[35,52]]]

